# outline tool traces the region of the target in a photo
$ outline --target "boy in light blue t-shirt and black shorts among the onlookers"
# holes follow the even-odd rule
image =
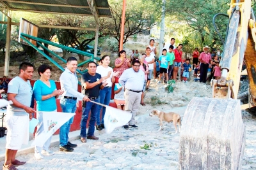
[[[159,67],[160,67],[160,71],[159,72],[160,72],[160,75],[159,75],[159,79],[158,79],[157,83],[160,83],[163,73],[164,73],[165,78],[166,78],[166,83],[168,81],[167,69],[169,67],[170,59],[166,55],[166,53],[167,53],[167,50],[163,49],[163,55],[161,55],[159,57]]]

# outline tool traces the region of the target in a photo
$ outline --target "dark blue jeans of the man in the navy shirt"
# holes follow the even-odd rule
[[[111,88],[109,88],[111,89]],[[99,103],[99,99],[92,100],[97,103]],[[86,137],[86,124],[89,117],[89,112],[91,111],[91,118],[89,122],[89,129],[88,129],[88,135],[87,136],[93,136],[94,134],[94,126],[95,122],[97,120],[97,110],[98,110],[98,104],[92,103],[92,102],[86,102],[85,108],[82,108],[82,118],[81,118],[81,124],[80,124],[80,136]]]

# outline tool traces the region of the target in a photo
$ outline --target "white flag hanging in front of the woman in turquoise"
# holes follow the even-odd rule
[[[44,132],[36,136],[31,146],[42,147],[54,132],[56,132],[61,125],[65,124],[70,118],[72,118],[75,113],[63,113],[63,112],[53,112],[53,111],[40,111],[39,114],[43,115],[44,121]]]

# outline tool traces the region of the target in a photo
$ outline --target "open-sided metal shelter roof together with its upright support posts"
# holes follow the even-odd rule
[[[8,21],[6,22],[6,53],[4,64],[5,76],[8,76],[9,74],[10,62],[10,34],[12,25],[10,11],[27,11],[32,13],[53,13],[94,17],[96,22],[95,49],[97,49],[98,46],[99,18],[112,17],[108,0],[0,0],[0,11],[4,13],[4,15],[8,16]],[[68,29],[68,27],[63,29]],[[94,55],[95,57],[97,56],[97,50],[95,50]]]

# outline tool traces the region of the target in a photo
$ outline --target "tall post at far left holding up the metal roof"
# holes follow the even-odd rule
[[[7,29],[6,29],[6,46],[5,46],[5,62],[4,62],[4,76],[9,74],[10,64],[10,43],[11,43],[11,29],[12,29],[12,18],[7,17]]]

